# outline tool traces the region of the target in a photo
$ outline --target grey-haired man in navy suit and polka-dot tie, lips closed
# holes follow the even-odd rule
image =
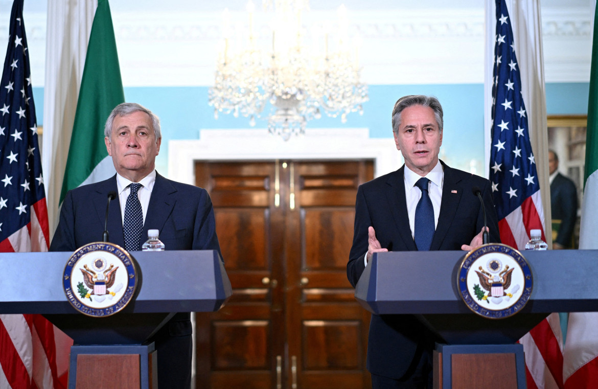
[[[212,202],[205,189],[167,180],[155,171],[160,120],[139,104],[118,105],[104,129],[117,174],[66,194],[50,251],[74,251],[102,240],[106,201],[117,193],[108,215],[110,241],[127,251],[141,249],[148,229],[160,231],[166,250],[218,250]],[[178,313],[154,336],[158,387],[190,388],[191,321]]]

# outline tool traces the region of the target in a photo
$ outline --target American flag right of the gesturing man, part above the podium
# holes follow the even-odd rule
[[[501,241],[523,249],[532,229],[542,230],[542,240],[546,240],[544,211],[504,0],[496,1],[496,19],[490,181]]]

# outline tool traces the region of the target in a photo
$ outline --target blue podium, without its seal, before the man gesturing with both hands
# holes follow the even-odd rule
[[[523,346],[516,344],[552,312],[598,311],[598,250],[523,251],[533,275],[527,305],[504,319],[472,312],[457,290],[463,251],[374,254],[355,287],[373,314],[413,314],[443,344],[434,355],[434,388],[526,388]]]

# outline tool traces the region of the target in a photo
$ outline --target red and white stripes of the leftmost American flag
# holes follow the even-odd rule
[[[0,242],[0,252],[48,251],[45,199],[31,222]],[[72,339],[42,315],[0,314],[0,389],[64,389]]]

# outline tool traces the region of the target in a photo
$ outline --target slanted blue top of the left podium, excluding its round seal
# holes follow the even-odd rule
[[[217,251],[133,251],[136,296],[123,312],[210,312],[231,295]],[[0,313],[72,314],[62,278],[72,253],[3,253]]]

